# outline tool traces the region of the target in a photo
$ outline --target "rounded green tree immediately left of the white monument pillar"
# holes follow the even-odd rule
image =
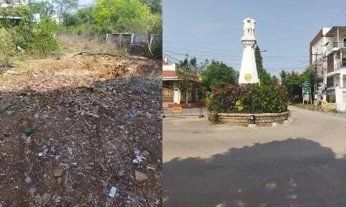
[[[208,92],[215,86],[223,87],[226,84],[234,84],[237,81],[237,72],[225,63],[212,60],[208,68],[201,73],[202,86]]]

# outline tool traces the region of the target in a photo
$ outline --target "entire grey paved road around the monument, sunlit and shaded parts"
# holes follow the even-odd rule
[[[164,206],[346,206],[346,115],[290,110],[268,128],[165,118]]]

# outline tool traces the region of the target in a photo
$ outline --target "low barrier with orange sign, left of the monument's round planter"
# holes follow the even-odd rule
[[[163,108],[164,117],[208,117],[207,108],[181,108],[181,110],[174,110],[174,108]]]

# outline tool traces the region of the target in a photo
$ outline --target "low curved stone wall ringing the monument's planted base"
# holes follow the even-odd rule
[[[208,120],[218,124],[232,124],[235,126],[248,126],[251,124],[251,115],[255,116],[257,126],[271,126],[274,122],[284,123],[289,119],[289,111],[282,113],[262,113],[262,114],[235,114],[235,113],[215,113],[210,112]]]

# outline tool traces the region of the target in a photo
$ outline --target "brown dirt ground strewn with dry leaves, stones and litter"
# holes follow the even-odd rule
[[[1,207],[161,206],[161,61],[78,55],[3,71]]]

